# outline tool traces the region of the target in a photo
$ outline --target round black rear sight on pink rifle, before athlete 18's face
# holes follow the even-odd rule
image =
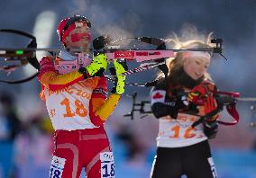
[[[105,36],[99,36],[95,40],[93,40],[93,47],[95,49],[95,56],[98,54],[102,54],[105,52],[105,47],[107,43],[110,42],[110,37],[105,35]]]

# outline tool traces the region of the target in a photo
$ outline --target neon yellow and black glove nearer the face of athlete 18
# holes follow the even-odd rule
[[[99,54],[93,58],[90,65],[87,67],[80,67],[78,72],[84,75],[84,78],[92,76],[103,76],[107,67],[107,60],[105,54]]]

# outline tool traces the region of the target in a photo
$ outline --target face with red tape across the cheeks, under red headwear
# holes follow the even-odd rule
[[[66,48],[88,50],[91,42],[90,29],[87,26],[77,27],[69,32],[64,42]]]

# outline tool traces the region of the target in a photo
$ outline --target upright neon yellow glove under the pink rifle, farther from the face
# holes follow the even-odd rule
[[[128,70],[126,60],[124,62],[117,62],[114,60],[114,67],[109,68],[110,73],[114,76],[114,87],[112,88],[111,93],[123,94],[124,93],[124,81],[126,76],[122,74]]]

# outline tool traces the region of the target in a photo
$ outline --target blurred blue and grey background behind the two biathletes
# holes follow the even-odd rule
[[[30,32],[37,38],[38,48],[60,48],[57,25],[74,14],[90,19],[94,38],[109,34],[114,40],[140,36],[167,39],[175,32],[189,39],[191,34],[214,31],[216,38],[224,40],[223,53],[228,58],[215,55],[210,73],[216,85],[242,97],[256,97],[255,0],[1,0],[0,7],[0,29]],[[23,37],[0,33],[0,48],[21,48],[27,42]],[[38,58],[41,55],[37,53]],[[2,67],[3,58],[0,62]],[[29,65],[9,73],[1,69],[0,79],[21,79],[35,72]],[[128,76],[128,82],[145,83],[157,73],[151,70]],[[49,176],[53,130],[39,99],[40,90],[36,78],[20,85],[0,84],[0,178]],[[140,102],[149,100],[150,90],[127,86],[125,93],[137,92]],[[256,122],[255,104],[238,102],[240,123],[221,126],[217,138],[210,142],[221,178],[256,177],[256,128],[251,124]],[[158,120],[140,114],[135,114],[134,120],[123,117],[131,109],[131,97],[123,96],[105,124],[114,148],[115,174],[149,177]],[[223,117],[229,116],[223,112]]]

